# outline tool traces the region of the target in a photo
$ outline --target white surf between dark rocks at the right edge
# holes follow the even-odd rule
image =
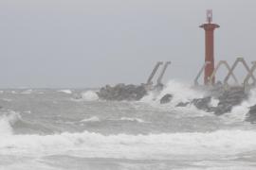
[[[228,123],[243,122],[247,117],[249,108],[254,105],[256,105],[256,89],[250,90],[247,100],[243,101],[241,105],[233,107],[230,113],[224,114],[222,117]]]

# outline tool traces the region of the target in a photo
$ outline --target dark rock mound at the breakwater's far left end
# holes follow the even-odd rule
[[[146,88],[143,85],[133,84],[118,84],[116,86],[106,85],[97,93],[103,100],[111,101],[137,101],[147,94]]]

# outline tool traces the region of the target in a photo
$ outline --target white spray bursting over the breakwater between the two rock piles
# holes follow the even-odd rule
[[[143,97],[140,101],[152,102],[159,100],[167,93],[173,94],[172,104],[176,105],[180,102],[189,102],[194,98],[203,97],[205,93],[192,89],[190,83],[180,82],[177,80],[170,80],[166,87],[160,93],[149,93],[147,96]]]

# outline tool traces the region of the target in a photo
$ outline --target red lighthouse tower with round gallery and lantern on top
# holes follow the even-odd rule
[[[209,77],[214,70],[214,29],[220,26],[212,24],[212,10],[207,10],[207,24],[203,24],[200,27],[205,29],[205,61],[209,64],[205,67],[205,85],[210,84]],[[213,77],[211,83],[214,84],[215,78]]]

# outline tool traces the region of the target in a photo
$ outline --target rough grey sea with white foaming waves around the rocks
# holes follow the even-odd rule
[[[0,91],[0,169],[256,169],[256,128],[245,121],[256,90],[220,116],[175,107],[204,95],[175,81],[133,102],[104,101],[96,91]],[[174,99],[160,105],[166,92]]]

